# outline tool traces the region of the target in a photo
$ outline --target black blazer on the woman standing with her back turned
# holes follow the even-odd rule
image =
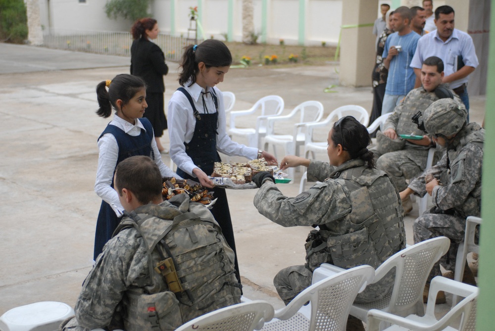
[[[139,76],[148,85],[148,93],[163,93],[163,75],[168,73],[165,56],[160,47],[146,38],[137,39],[131,46],[131,75]]]

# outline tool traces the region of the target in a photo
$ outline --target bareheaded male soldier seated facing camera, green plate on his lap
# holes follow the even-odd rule
[[[426,168],[428,150],[434,146],[430,136],[424,136],[411,120],[418,111],[425,109],[442,97],[453,97],[448,87],[441,85],[444,77],[444,63],[432,56],[423,62],[421,69],[422,87],[409,92],[383,125],[383,134],[377,135],[378,145],[373,152],[376,166],[385,171],[399,191],[407,188],[406,180],[421,174]],[[457,95],[455,95],[456,98]],[[460,100],[460,99],[458,99]],[[402,140],[398,135],[423,136],[421,140]],[[412,209],[410,197],[402,201],[404,212]]]

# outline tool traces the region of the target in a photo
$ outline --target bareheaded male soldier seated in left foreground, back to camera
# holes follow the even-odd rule
[[[151,226],[161,229],[158,235],[163,232],[163,227],[171,227],[172,221],[165,223],[162,220],[174,220],[175,216],[190,214],[188,210],[193,211],[201,220],[210,219],[209,222],[215,222],[206,207],[201,204],[189,204],[187,194],[179,194],[173,198],[174,203],[179,202],[179,207],[169,201],[163,201],[160,171],[147,156],[133,156],[119,163],[114,182],[115,190],[119,193],[119,200],[127,211],[127,215],[138,216],[131,213],[132,211],[138,214],[141,214],[143,210],[156,211],[155,214],[159,217],[144,217],[139,224],[143,226],[147,219],[153,221]],[[125,223],[126,219],[128,218],[124,218],[122,222]],[[153,232],[152,229],[153,227],[151,227],[151,232]],[[157,231],[154,232],[157,233]],[[177,232],[174,233],[176,234]],[[189,233],[188,236],[193,235],[197,236],[196,241],[199,240],[199,242],[204,238],[199,232]],[[152,253],[148,251],[148,244],[153,240],[149,240],[148,236],[138,232],[132,226],[114,234],[113,238],[103,247],[103,252],[99,254],[95,266],[83,283],[75,306],[75,318],[62,326],[63,330],[89,331],[96,328],[126,331],[175,330],[198,315],[239,303],[240,288],[230,286],[229,282],[225,281],[228,279],[237,284],[234,274],[234,252],[228,247],[219,227],[216,238],[224,247],[227,247],[219,257],[221,259],[219,263],[222,265],[219,269],[221,270],[211,272],[208,266],[202,266],[203,270],[208,270],[208,275],[197,277],[198,274],[195,272],[195,280],[188,282],[208,292],[202,293],[200,297],[197,296],[195,299],[198,300],[187,305],[184,310],[179,302],[186,301],[186,295],[184,294],[182,298],[176,297],[165,278],[153,270],[154,265],[149,265],[154,260],[161,260],[157,250],[153,250]],[[174,248],[173,243],[173,241],[169,242],[170,249]],[[211,256],[213,253],[215,251],[210,248],[208,254]],[[187,258],[195,258],[193,254]],[[176,256],[174,263],[185,259],[185,255]],[[212,261],[213,259],[205,260]],[[227,276],[219,276],[225,270],[228,271]],[[178,274],[181,272],[177,271]],[[179,277],[186,279],[188,275]],[[221,284],[215,283],[217,281],[221,281]],[[198,292],[194,295],[196,294]],[[197,302],[203,306],[198,307]]]

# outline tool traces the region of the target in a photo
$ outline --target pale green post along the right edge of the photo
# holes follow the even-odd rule
[[[491,25],[495,23],[495,5],[491,6]],[[495,176],[493,169],[495,167],[495,33],[490,32],[489,56],[488,56],[488,78],[487,78],[487,98],[485,105],[485,146],[483,148],[483,185],[481,200],[481,216],[483,218],[482,229],[480,232],[480,259],[482,259],[479,268],[478,287],[480,296],[478,298],[476,314],[476,330],[492,331],[494,330],[494,304],[495,297],[495,258],[492,257],[495,251],[495,240],[493,240],[493,231],[495,231],[495,204],[493,194],[495,187]]]

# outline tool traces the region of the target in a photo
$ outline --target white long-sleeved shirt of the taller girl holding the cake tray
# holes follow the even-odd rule
[[[193,98],[193,102],[196,110],[198,110],[198,113],[207,113],[203,108],[203,97],[208,113],[215,113],[217,110],[215,109],[212,96],[208,93],[202,97],[201,92],[205,93],[206,91],[196,83],[188,87],[189,84],[191,84],[190,81],[185,84],[184,89],[186,89],[186,91],[189,92]],[[208,88],[208,91],[210,90],[211,88]],[[217,150],[229,156],[238,155],[244,156],[251,160],[255,159],[258,155],[257,148],[248,147],[244,144],[233,142],[227,135],[223,94],[220,90],[218,90],[218,88],[214,88],[214,92],[216,93],[218,99],[218,128],[216,137]],[[186,154],[186,146],[184,143],[189,143],[193,139],[195,126],[196,117],[193,116],[191,103],[184,93],[175,91],[172,98],[168,102],[170,157],[179,168],[193,177],[196,177],[196,175],[193,174],[193,169],[198,168],[198,166],[196,166],[191,157]]]

